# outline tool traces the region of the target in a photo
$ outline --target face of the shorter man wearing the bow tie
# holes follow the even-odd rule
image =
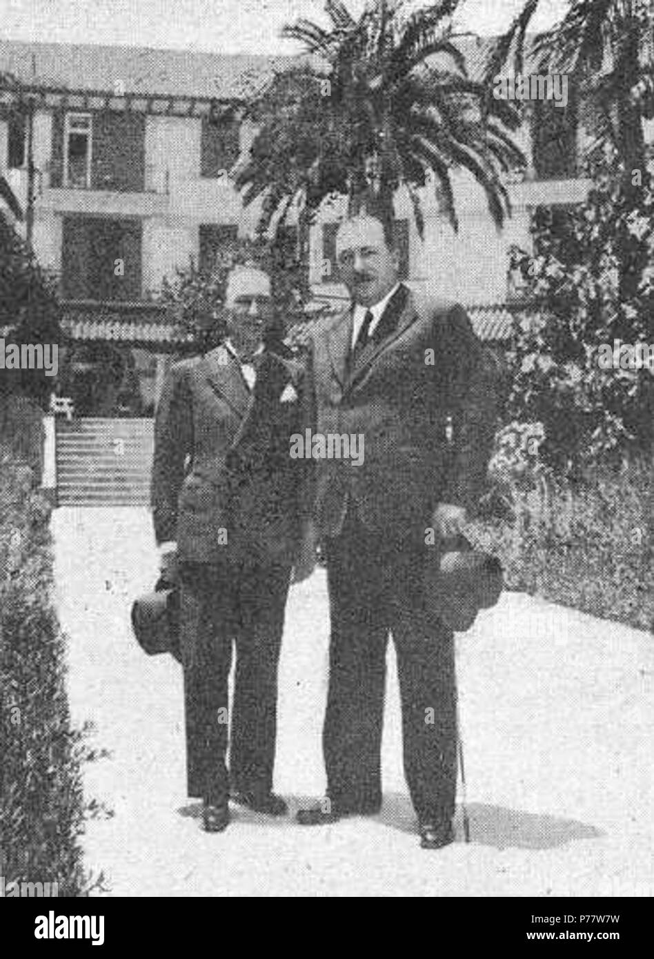
[[[224,306],[229,339],[241,356],[251,357],[260,346],[272,315],[268,273],[250,267],[232,269]]]

